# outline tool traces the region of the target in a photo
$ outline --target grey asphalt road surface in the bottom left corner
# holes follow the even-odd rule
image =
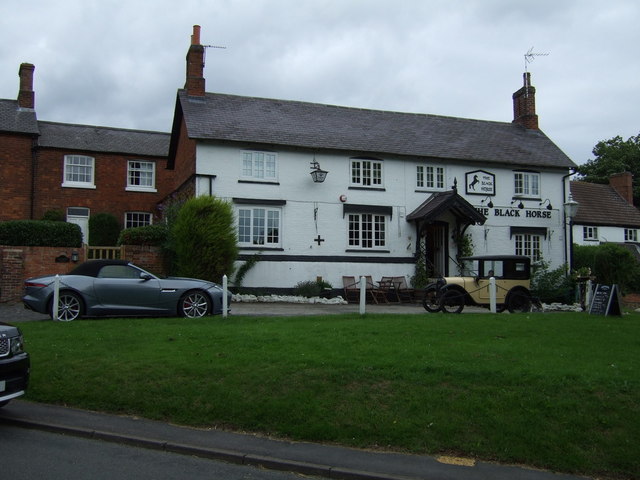
[[[293,473],[4,425],[0,477],[11,480],[300,480]],[[304,478],[312,478],[305,476]]]

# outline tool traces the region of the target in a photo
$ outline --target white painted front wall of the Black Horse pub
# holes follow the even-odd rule
[[[247,148],[247,150],[254,150]],[[265,149],[266,150],[266,149]],[[384,191],[350,189],[349,154],[315,153],[315,159],[323,170],[329,172],[324,183],[313,183],[310,162],[314,153],[310,151],[273,150],[277,153],[278,185],[240,183],[242,168],[242,148],[199,144],[197,147],[198,175],[214,176],[202,178],[196,187],[198,195],[213,194],[231,200],[234,197],[271,200],[286,200],[282,208],[282,251],[265,251],[268,254],[295,256],[335,257],[379,257],[410,259],[416,247],[414,224],[406,221],[406,216],[424,202],[431,191],[416,189],[416,166],[421,164],[442,164],[419,161],[418,159],[383,158]],[[496,178],[495,193],[491,197],[493,208],[482,203],[484,196],[465,193],[465,173],[483,169]],[[458,193],[477,208],[483,208],[487,216],[484,226],[471,226],[467,230],[472,235],[475,254],[513,254],[514,239],[510,235],[511,226],[545,227],[548,235],[544,240],[543,257],[553,268],[565,263],[565,232],[563,228],[562,204],[564,171],[541,171],[541,200],[549,199],[553,210],[550,212],[539,206],[539,200],[523,200],[526,208],[511,205],[513,199],[513,170],[505,165],[450,164],[446,165],[446,189],[458,182]],[[540,170],[537,170],[540,171]],[[346,203],[383,205],[392,207],[392,217],[387,224],[387,251],[377,253],[371,250],[361,253],[346,252],[348,225],[343,217],[341,195]],[[488,203],[488,200],[485,202]],[[317,208],[317,221],[314,209]],[[528,212],[528,213],[527,213]],[[549,218],[538,218],[538,212]],[[511,216],[507,216],[511,214]],[[529,215],[529,216],[527,216]],[[533,215],[533,216],[531,216]],[[453,229],[451,229],[451,232]],[[320,245],[314,239],[320,235],[325,239]],[[449,250],[453,256],[455,246],[450,241]],[[255,253],[241,250],[241,253]],[[451,272],[456,272],[451,264]],[[315,280],[321,276],[334,288],[342,286],[343,275],[372,275],[375,280],[387,275],[405,275],[409,279],[414,274],[412,261],[407,263],[359,263],[330,261],[304,262],[279,261],[259,262],[245,277],[247,287],[292,288],[298,282]]]

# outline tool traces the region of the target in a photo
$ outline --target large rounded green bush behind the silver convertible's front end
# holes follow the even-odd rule
[[[229,203],[205,196],[187,200],[170,236],[179,275],[221,282],[233,272],[238,242]]]

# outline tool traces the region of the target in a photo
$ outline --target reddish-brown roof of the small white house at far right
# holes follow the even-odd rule
[[[580,204],[573,223],[640,228],[640,211],[610,185],[574,181],[571,196]]]

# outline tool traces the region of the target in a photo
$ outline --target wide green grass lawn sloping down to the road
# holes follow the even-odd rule
[[[567,473],[640,472],[640,315],[21,324],[27,398]]]

